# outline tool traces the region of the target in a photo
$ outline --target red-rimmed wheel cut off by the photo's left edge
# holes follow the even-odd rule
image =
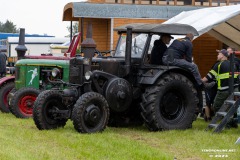
[[[0,89],[0,110],[9,113],[8,94],[14,88],[14,82],[7,82]]]

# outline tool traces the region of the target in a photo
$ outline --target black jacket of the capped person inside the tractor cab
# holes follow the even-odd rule
[[[167,49],[167,46],[165,43],[163,43],[161,40],[155,40],[153,49],[151,51],[150,63],[162,65],[163,64],[162,57],[166,49]]]

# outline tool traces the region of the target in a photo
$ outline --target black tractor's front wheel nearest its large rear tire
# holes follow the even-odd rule
[[[80,133],[103,131],[109,119],[109,106],[99,93],[88,92],[76,102],[72,112],[74,128]]]

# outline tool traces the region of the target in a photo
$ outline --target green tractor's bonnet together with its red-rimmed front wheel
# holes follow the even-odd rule
[[[21,59],[15,64],[15,88],[9,94],[9,109],[18,118],[32,116],[38,94],[62,85],[50,81],[68,81],[69,60]]]

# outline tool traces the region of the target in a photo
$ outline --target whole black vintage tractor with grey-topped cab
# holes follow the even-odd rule
[[[35,101],[38,129],[63,127],[68,119],[81,133],[142,121],[150,131],[192,127],[202,107],[193,75],[179,67],[149,64],[149,53],[162,33],[198,32],[182,24],[129,26],[115,29],[120,37],[109,57],[92,58],[96,45],[88,32],[82,43],[84,57],[70,60],[69,83],[59,82],[69,87],[44,91]]]

